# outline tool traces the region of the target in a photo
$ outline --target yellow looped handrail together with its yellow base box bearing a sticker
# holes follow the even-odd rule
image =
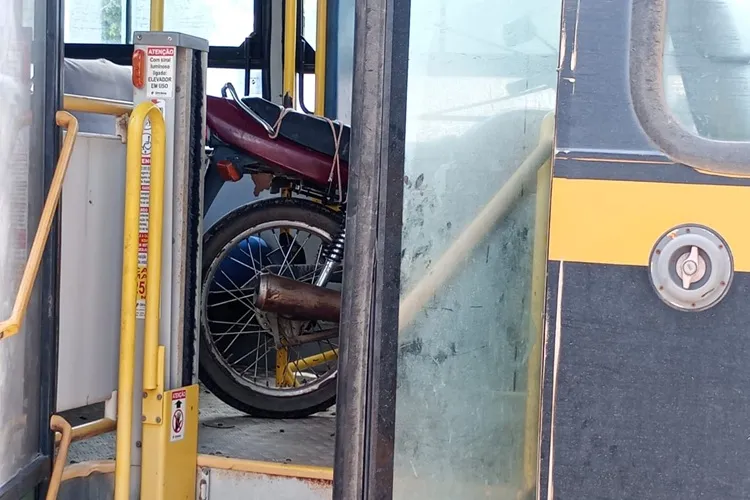
[[[143,124],[151,122],[148,249],[146,265],[138,262],[139,202]],[[128,125],[125,256],[123,258],[123,326],[118,389],[115,500],[129,497],[133,417],[136,307],[145,288],[141,498],[193,500],[198,454],[198,386],[165,390],[165,352],[159,345],[162,237],[164,231],[164,117],[150,103],[139,104]],[[145,177],[145,176],[144,176]],[[143,281],[145,280],[145,284]],[[137,285],[136,285],[137,283]],[[143,295],[140,296],[143,298]],[[121,419],[124,421],[121,422]],[[123,435],[120,433],[123,431]]]

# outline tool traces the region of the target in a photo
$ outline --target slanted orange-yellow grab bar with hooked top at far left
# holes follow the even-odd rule
[[[31,292],[34,289],[34,282],[39,273],[39,266],[42,263],[44,247],[47,245],[49,232],[52,229],[52,220],[55,218],[55,212],[60,203],[63,180],[65,180],[65,174],[70,165],[70,155],[73,152],[73,146],[78,135],[78,120],[70,113],[58,111],[55,114],[55,121],[59,127],[63,127],[67,131],[67,134],[60,150],[60,156],[57,159],[57,166],[55,167],[55,174],[50,183],[47,199],[44,201],[42,216],[39,218],[39,226],[36,229],[34,242],[31,245],[29,259],[26,261],[26,267],[23,270],[23,277],[18,287],[13,311],[10,314],[10,318],[0,322],[0,339],[12,337],[18,333],[23,325],[26,309],[31,300]]]

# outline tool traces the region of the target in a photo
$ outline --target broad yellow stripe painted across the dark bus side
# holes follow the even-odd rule
[[[549,259],[647,266],[659,237],[685,223],[716,231],[735,269],[750,271],[750,186],[556,178]]]

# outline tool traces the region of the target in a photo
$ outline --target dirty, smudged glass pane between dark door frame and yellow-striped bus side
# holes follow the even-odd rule
[[[560,12],[411,2],[395,499],[535,498],[549,170],[498,193],[554,109]],[[509,201],[499,220],[415,303],[496,196]]]

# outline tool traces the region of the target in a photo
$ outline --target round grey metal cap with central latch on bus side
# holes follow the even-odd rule
[[[705,311],[729,291],[734,261],[726,241],[705,226],[685,224],[664,233],[651,250],[651,284],[667,305]]]

